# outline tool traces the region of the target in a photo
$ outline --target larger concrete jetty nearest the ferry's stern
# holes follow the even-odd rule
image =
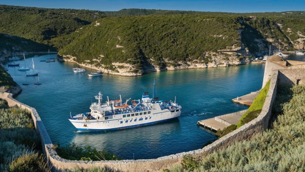
[[[225,115],[215,116],[213,118],[198,121],[197,124],[204,128],[208,128],[211,131],[222,130],[230,125],[236,125],[238,121],[242,118],[245,111],[247,111],[247,109],[238,112],[228,113]]]

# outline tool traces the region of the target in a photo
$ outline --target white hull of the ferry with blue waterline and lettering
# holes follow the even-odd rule
[[[134,112],[137,113],[137,112]],[[165,110],[153,114],[122,117],[123,114],[114,115],[113,119],[109,120],[74,120],[70,122],[80,131],[111,131],[127,128],[135,128],[146,125],[162,123],[178,118],[181,114],[181,109],[174,112]]]

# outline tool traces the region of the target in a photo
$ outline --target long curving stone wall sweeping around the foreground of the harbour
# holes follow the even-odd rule
[[[180,164],[183,155],[202,156],[212,153],[215,150],[219,150],[229,146],[230,144],[251,138],[253,134],[262,132],[267,129],[269,120],[271,118],[271,109],[276,96],[278,71],[274,71],[271,75],[270,89],[268,91],[263,110],[260,115],[245,124],[239,129],[229,133],[228,135],[214,141],[212,144],[205,146],[202,149],[197,149],[189,152],[178,153],[174,155],[164,156],[156,159],[145,159],[145,160],[120,160],[120,161],[71,161],[61,158],[57,155],[56,150],[52,149],[52,141],[36,111],[35,108],[30,107],[26,104],[20,103],[12,98],[10,93],[0,94],[0,98],[8,102],[9,106],[17,105],[21,108],[28,109],[31,112],[32,119],[36,130],[38,131],[43,153],[47,157],[49,163],[54,167],[55,170],[61,171],[63,169],[73,169],[75,167],[90,168],[92,166],[108,166],[114,169],[122,171],[133,171],[133,172],[156,172],[162,169],[167,169],[173,165]],[[195,124],[194,124],[195,125]],[[199,139],[199,138],[198,138]]]

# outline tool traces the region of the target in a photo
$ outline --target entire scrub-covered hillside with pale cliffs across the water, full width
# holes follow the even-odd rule
[[[1,54],[51,47],[64,59],[87,65],[93,60],[96,68],[118,74],[121,69],[142,74],[196,65],[244,64],[248,57],[268,52],[269,45],[272,50],[292,50],[303,48],[305,40],[302,11],[102,12],[0,5],[0,16]]]

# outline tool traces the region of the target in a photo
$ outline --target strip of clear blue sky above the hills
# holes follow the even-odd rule
[[[222,12],[305,10],[305,0],[0,0],[0,4],[100,11],[117,11],[122,8]]]

